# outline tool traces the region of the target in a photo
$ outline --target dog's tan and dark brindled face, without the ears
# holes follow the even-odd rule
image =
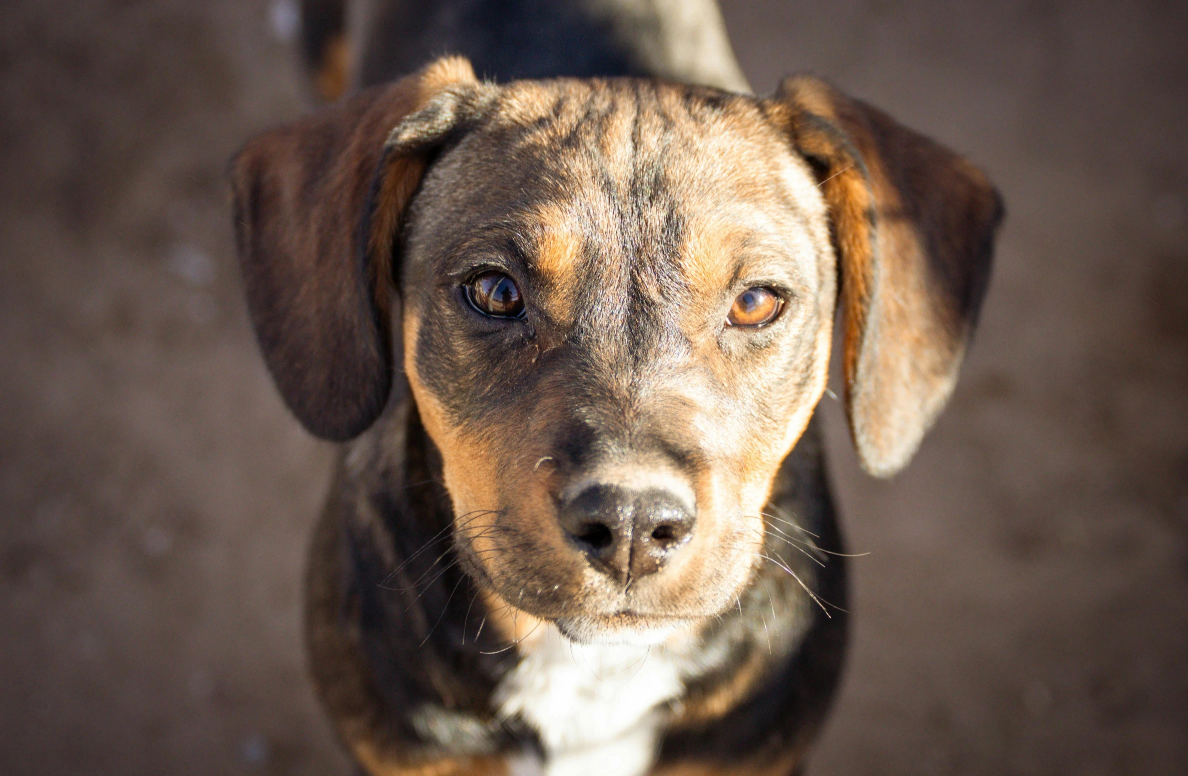
[[[731,605],[824,389],[824,201],[754,100],[518,83],[407,216],[405,374],[459,548],[580,638]]]

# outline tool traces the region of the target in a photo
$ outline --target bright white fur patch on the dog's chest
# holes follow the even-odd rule
[[[639,776],[656,758],[664,701],[681,694],[677,661],[663,646],[575,644],[542,624],[495,689],[505,718],[519,715],[545,750],[520,774]]]

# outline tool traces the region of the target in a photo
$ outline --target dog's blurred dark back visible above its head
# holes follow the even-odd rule
[[[449,52],[498,81],[650,76],[750,92],[715,0],[360,0],[348,27],[358,86]]]

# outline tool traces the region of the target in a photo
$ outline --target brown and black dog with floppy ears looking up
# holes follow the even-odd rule
[[[441,43],[618,77],[440,58],[232,165],[265,360],[345,442],[308,578],[322,700],[375,776],[796,772],[846,641],[814,421],[835,308],[886,477],[953,390],[999,197],[817,78],[759,99],[656,43],[728,55],[710,2],[469,6],[453,37],[388,8],[356,69]],[[482,38],[497,6],[556,13]],[[418,20],[441,40],[375,53]]]

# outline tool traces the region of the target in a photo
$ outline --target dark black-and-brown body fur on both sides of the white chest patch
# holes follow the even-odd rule
[[[440,455],[407,406],[393,403],[392,425],[378,424],[340,460],[309,566],[310,664],[340,734],[372,772],[446,762],[443,772],[475,772],[492,755],[538,744],[491,705],[518,656],[489,622],[501,612],[485,608],[456,563]],[[847,620],[821,461],[814,421],[775,482],[763,549],[773,561],[700,630],[699,673],[666,709],[658,769],[762,771],[798,762],[819,730]]]

